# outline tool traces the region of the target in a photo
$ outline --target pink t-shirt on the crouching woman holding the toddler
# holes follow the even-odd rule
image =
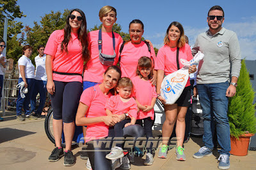
[[[106,116],[104,106],[110,96],[110,93],[109,95],[104,95],[100,90],[99,85],[85,89],[81,95],[80,102],[89,106],[88,111],[85,114],[86,117]],[[108,136],[108,125],[104,122],[88,125],[85,142],[92,141],[93,139],[105,138],[106,136]]]

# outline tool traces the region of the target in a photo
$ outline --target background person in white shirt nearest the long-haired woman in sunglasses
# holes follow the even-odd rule
[[[31,105],[31,114],[35,117],[41,117],[42,110],[44,109],[45,99],[46,99],[46,83],[47,75],[45,71],[45,59],[46,55],[44,54],[44,45],[39,45],[37,48],[38,55],[35,57],[36,64],[36,73],[35,73],[35,85],[33,94],[30,100]],[[36,110],[36,96],[39,93],[40,103]]]

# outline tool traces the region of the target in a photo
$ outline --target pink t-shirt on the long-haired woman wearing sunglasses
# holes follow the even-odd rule
[[[52,71],[62,73],[83,73],[83,59],[81,42],[78,34],[71,32],[71,38],[68,43],[68,53],[61,52],[61,42],[64,38],[64,30],[52,32],[44,49],[44,53],[52,56]],[[82,82],[82,76],[71,76],[63,74],[52,74],[53,80],[56,81],[79,81]]]

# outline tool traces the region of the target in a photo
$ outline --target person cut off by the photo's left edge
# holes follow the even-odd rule
[[[6,63],[6,57],[3,56],[2,52],[6,48],[5,42],[3,39],[0,39],[0,107],[1,107],[1,97],[3,89],[3,80],[4,80],[4,69]],[[0,117],[0,121],[3,121],[3,118]]]

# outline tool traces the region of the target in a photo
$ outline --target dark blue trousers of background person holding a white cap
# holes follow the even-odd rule
[[[22,78],[19,78],[18,83],[20,83],[22,81],[23,81]],[[17,116],[21,115],[22,106],[24,108],[25,115],[30,114],[29,103],[30,103],[30,99],[31,99],[31,96],[32,96],[32,93],[33,93],[35,79],[34,78],[26,78],[26,81],[28,83],[28,93],[25,94],[24,98],[21,98],[20,89],[19,89],[19,92],[18,92],[18,99],[17,99],[17,103],[16,103],[16,114],[17,114]]]

